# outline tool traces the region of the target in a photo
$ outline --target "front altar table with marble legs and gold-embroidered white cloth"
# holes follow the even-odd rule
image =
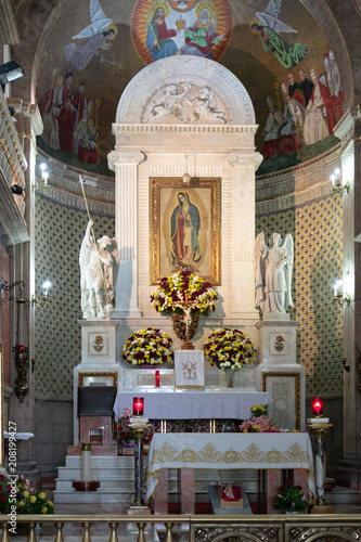
[[[194,469],[267,469],[267,512],[281,486],[281,469],[294,469],[294,482],[314,495],[313,454],[307,433],[156,433],[146,468],[146,501],[154,513],[168,507],[168,468],[181,469],[181,513],[194,514]]]

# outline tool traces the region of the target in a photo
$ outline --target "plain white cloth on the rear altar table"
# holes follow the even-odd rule
[[[116,420],[123,410],[132,411],[133,397],[144,397],[144,416],[149,420],[247,420],[255,404],[271,404],[267,391],[179,390],[179,391],[120,391],[114,403]]]

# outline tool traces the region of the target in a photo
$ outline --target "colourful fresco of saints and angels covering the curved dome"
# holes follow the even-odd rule
[[[37,53],[39,146],[98,173],[111,175],[123,91],[167,56],[211,59],[242,81],[259,125],[260,172],[333,145],[343,115],[337,59],[298,0],[81,0],[63,8],[56,26],[48,23]]]

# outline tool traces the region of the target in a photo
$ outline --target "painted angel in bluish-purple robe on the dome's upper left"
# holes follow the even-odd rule
[[[73,39],[89,39],[80,46],[69,43],[63,47],[66,60],[79,72],[88,66],[94,55],[99,56],[102,51],[111,49],[111,41],[118,34],[117,26],[113,24],[111,18],[105,17],[99,0],[90,0],[90,20],[89,26],[73,36]]]

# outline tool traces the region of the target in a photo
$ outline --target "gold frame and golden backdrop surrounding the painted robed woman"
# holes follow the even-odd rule
[[[179,269],[175,266],[172,236],[173,217],[180,194],[199,217],[197,257],[194,272],[214,286],[221,285],[221,178],[192,179],[184,185],[182,178],[150,178],[150,283],[156,285],[163,276]],[[192,247],[193,248],[193,247]],[[193,263],[193,262],[192,262]],[[186,269],[186,268],[184,268]]]

